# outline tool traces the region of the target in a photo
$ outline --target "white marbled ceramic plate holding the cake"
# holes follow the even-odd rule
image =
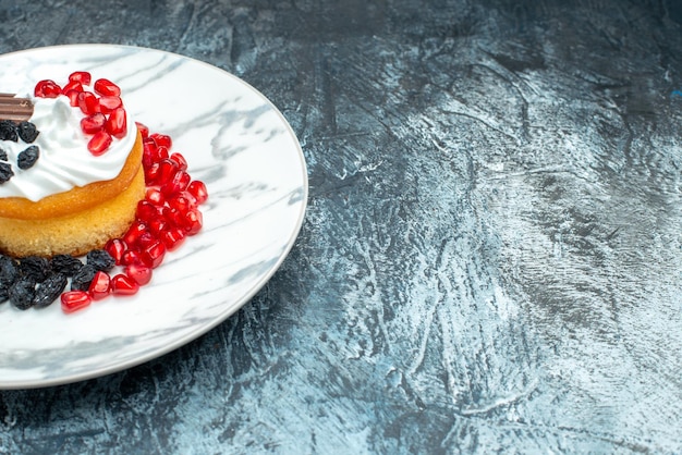
[[[305,212],[307,174],[291,127],[261,94],[215,66],[136,47],[39,48],[0,56],[0,91],[78,70],[115,82],[136,121],[172,137],[208,187],[204,229],[135,296],[71,315],[59,302],[27,311],[0,305],[0,389],[111,373],[206,333],[275,273]]]

